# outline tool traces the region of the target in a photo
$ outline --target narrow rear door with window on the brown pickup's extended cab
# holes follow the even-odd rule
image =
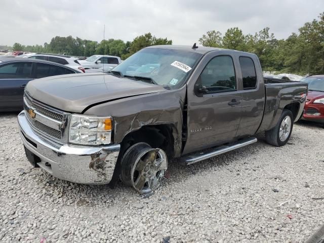
[[[247,55],[247,56],[246,56]],[[262,120],[265,90],[260,63],[255,55],[237,55],[242,113],[237,137],[254,135]]]

